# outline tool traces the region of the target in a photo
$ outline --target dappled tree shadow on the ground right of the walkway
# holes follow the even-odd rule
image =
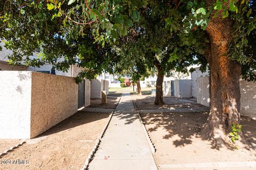
[[[150,96],[133,96],[135,106],[149,132],[164,129],[163,139],[171,139],[175,147],[184,147],[193,145],[195,138],[210,142],[212,149],[219,150],[223,146],[234,150],[234,144],[220,138],[205,138],[202,134],[203,125],[209,116],[209,108],[196,103],[194,98],[164,98],[165,105],[154,105],[154,97]],[[166,111],[167,109],[171,111]],[[159,112],[159,111],[164,112]],[[189,112],[189,110],[195,112]],[[142,112],[143,111],[143,112]],[[132,119],[128,118],[127,123]],[[242,116],[241,124],[243,125],[244,140],[243,148],[255,150],[256,147],[256,121],[252,118]],[[173,138],[175,136],[175,138]],[[176,138],[178,136],[178,138]],[[173,140],[175,139],[175,140]]]

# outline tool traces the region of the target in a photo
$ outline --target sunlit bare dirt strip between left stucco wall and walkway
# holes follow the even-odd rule
[[[81,169],[93,149],[95,140],[105,128],[109,115],[77,112],[39,137],[27,140],[23,146],[2,156],[0,169]],[[10,148],[7,145],[6,147]],[[2,150],[3,148],[1,146]],[[4,164],[4,160],[26,162],[23,165]]]

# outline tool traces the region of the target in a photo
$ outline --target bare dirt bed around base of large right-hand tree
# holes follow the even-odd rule
[[[247,142],[244,148],[237,150],[228,146],[220,148],[214,139],[201,137],[200,128],[207,120],[206,112],[141,113],[141,116],[156,148],[154,157],[159,169],[166,164],[256,161],[256,121],[249,117],[242,116]]]

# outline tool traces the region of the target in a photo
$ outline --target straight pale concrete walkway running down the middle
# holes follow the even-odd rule
[[[89,169],[157,170],[129,93],[119,101]]]

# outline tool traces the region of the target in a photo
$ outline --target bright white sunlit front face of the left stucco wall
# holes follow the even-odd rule
[[[0,71],[0,81],[0,138],[29,138],[31,72]]]

